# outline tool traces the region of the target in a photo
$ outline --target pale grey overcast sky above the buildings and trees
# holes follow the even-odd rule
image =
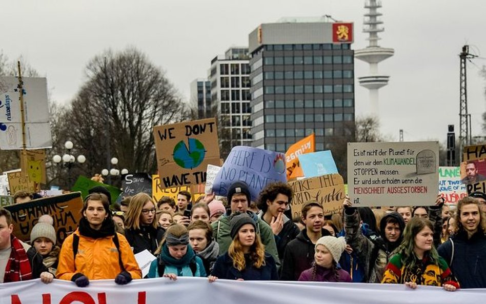
[[[10,58],[22,54],[47,76],[52,98],[69,103],[85,80],[90,58],[111,48],[135,46],[163,68],[186,98],[189,84],[205,77],[210,61],[230,46],[248,45],[248,34],[261,23],[283,16],[320,16],[355,24],[353,49],[367,45],[362,33],[364,0],[15,0],[2,3],[2,43]],[[483,58],[468,63],[472,133],[482,135],[486,110],[486,1],[382,0],[385,31],[382,47],[395,55],[379,65],[390,75],[380,89],[382,133],[406,141],[446,140],[447,126],[459,131],[459,57],[464,44]],[[355,63],[356,76],[368,65]],[[368,91],[356,80],[356,114],[366,112]]]

